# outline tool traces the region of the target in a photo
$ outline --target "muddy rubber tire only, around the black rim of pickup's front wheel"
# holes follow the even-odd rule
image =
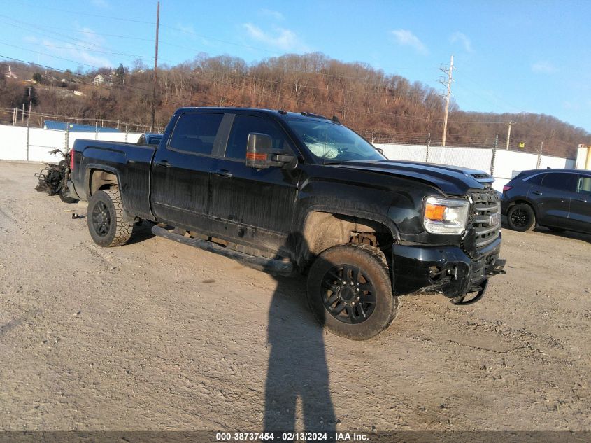
[[[375,288],[376,303],[369,317],[361,323],[343,323],[325,307],[323,279],[331,269],[350,265],[360,269]],[[375,337],[392,323],[399,307],[392,295],[392,282],[385,255],[368,245],[333,246],[318,255],[308,272],[308,304],[318,322],[330,332],[353,340]]]

